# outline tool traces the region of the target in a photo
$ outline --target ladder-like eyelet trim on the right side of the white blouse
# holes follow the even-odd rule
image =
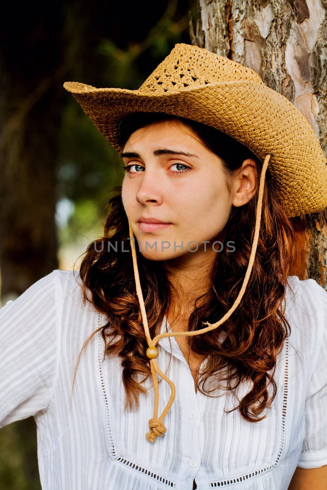
[[[259,469],[255,469],[250,471],[249,473],[245,473],[241,476],[235,476],[232,478],[224,478],[223,480],[210,482],[210,488],[218,488],[218,487],[228,487],[230,485],[234,485],[235,483],[245,482],[250,480],[253,477],[261,475],[267,471],[272,470],[275,466],[278,465],[281,454],[284,448],[284,435],[285,435],[285,417],[286,417],[286,409],[287,409],[287,396],[288,396],[288,338],[285,339],[285,365],[284,365],[284,390],[283,390],[283,405],[282,405],[282,416],[281,416],[281,438],[280,438],[280,447],[277,453],[276,461],[273,465],[264,466]]]

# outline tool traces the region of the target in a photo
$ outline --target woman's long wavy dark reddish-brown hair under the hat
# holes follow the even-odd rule
[[[162,121],[191,129],[205,147],[220,157],[229,191],[233,175],[247,158],[255,161],[259,181],[262,162],[249,148],[213,127],[186,118],[161,113],[129,115],[120,123],[121,147],[137,129]],[[252,248],[258,187],[247,204],[232,206],[220,240],[224,243],[225,237],[233,237],[235,251],[231,253],[224,247],[220,253],[214,254],[208,278],[210,287],[194,302],[188,319],[188,331],[200,330],[202,322],[215,323],[221,319],[240,291]],[[131,253],[120,251],[120,247],[117,252],[103,247],[103,243],[109,239],[111,243],[130,243],[127,241],[128,221],[121,186],[114,188],[108,208],[103,237],[87,247],[79,269],[84,304],[89,301],[95,310],[105,315],[107,322],[85,341],[77,359],[72,392],[81,353],[92,337],[101,331],[105,345],[103,361],[106,356],[118,356],[121,360],[126,392],[125,410],[132,411],[139,408],[139,394],[147,393],[143,383],[151,376],[150,362],[146,356],[148,345],[136,294]],[[235,394],[242,382],[251,382],[251,390],[241,400],[238,399],[239,404],[230,410],[238,409],[241,416],[250,422],[266,417],[277,393],[274,379],[277,355],[290,334],[283,300],[287,276],[296,256],[295,242],[292,221],[277,197],[276,185],[268,168],[259,240],[241,303],[221,327],[186,338],[189,349],[206,358],[205,370],[201,372],[197,385],[203,394],[213,396],[210,393],[217,388]],[[148,260],[137,250],[137,263],[153,338],[160,332],[173,295],[177,297],[178,292],[162,262]],[[225,336],[223,342],[220,338],[222,330]]]

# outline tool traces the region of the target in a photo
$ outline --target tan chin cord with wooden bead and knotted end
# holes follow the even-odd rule
[[[257,203],[257,209],[256,209],[255,229],[254,229],[252,250],[251,250],[248,269],[246,271],[241,290],[240,290],[237,298],[235,299],[233,306],[228,310],[228,312],[224,315],[224,317],[222,319],[220,319],[219,321],[217,321],[216,323],[212,323],[212,324],[209,323],[208,321],[202,322],[204,325],[208,325],[208,326],[206,328],[202,328],[200,331],[197,330],[194,332],[166,332],[166,333],[157,335],[156,337],[151,339],[149,326],[148,326],[147,314],[145,311],[145,306],[144,306],[144,301],[143,301],[139,272],[137,269],[134,233],[133,233],[133,230],[132,230],[130,223],[128,221],[129,235],[130,235],[131,243],[133,242],[133,246],[131,245],[131,250],[132,250],[133,268],[134,268],[134,278],[135,278],[135,284],[136,284],[136,293],[137,293],[137,296],[139,299],[144,331],[145,331],[146,339],[147,339],[147,342],[149,345],[149,348],[147,349],[146,355],[150,359],[150,368],[151,368],[151,375],[152,375],[153,388],[154,388],[153,417],[150,418],[150,420],[149,420],[150,431],[146,433],[146,439],[149,442],[153,443],[157,437],[162,436],[162,434],[164,434],[166,432],[167,429],[163,423],[163,420],[166,417],[166,415],[168,414],[168,412],[170,411],[170,409],[173,405],[173,402],[175,400],[175,395],[176,395],[176,388],[175,388],[174,383],[169,378],[167,378],[167,376],[165,376],[165,374],[160,370],[160,368],[158,366],[156,358],[158,357],[159,351],[155,345],[158,343],[158,341],[160,339],[163,339],[164,337],[182,337],[182,336],[190,337],[190,336],[201,335],[201,334],[204,334],[206,332],[210,332],[210,330],[214,330],[215,328],[219,327],[222,323],[224,323],[224,321],[226,321],[226,319],[228,319],[230,317],[230,315],[235,311],[237,306],[240,304],[242,296],[245,293],[247,284],[249,282],[250,274],[251,274],[253,263],[254,263],[254,257],[255,257],[256,247],[257,247],[258,238],[259,238],[259,229],[260,229],[260,221],[261,221],[261,209],[262,209],[263,188],[264,188],[264,183],[265,183],[265,174],[266,174],[268,162],[269,162],[271,156],[272,156],[271,153],[266,154],[265,160],[264,160],[263,166],[262,166],[262,171],[261,171],[261,175],[260,175],[260,185],[259,185],[258,203]],[[161,378],[164,379],[169,384],[170,389],[171,389],[170,398],[168,400],[168,403],[167,403],[165,409],[163,410],[162,414],[160,415],[160,417],[158,417],[159,387],[158,387],[158,379],[156,376],[157,374],[159,376],[161,376]]]

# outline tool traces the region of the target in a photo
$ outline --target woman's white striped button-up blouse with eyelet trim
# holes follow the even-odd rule
[[[140,411],[124,412],[120,360],[101,362],[101,333],[83,351],[70,404],[80,349],[106,323],[83,305],[78,277],[53,270],[0,309],[0,427],[34,416],[43,490],[192,490],[194,480],[197,490],[286,490],[297,466],[327,464],[327,292],[316,281],[289,278],[292,332],[277,362],[277,396],[261,422],[226,414],[236,406],[228,392],[195,392],[175,338],[161,339],[158,362],[176,399],[167,432],[151,444],[153,388],[140,396]],[[238,396],[248,389],[241,385]],[[160,414],[170,395],[165,381],[159,392]]]

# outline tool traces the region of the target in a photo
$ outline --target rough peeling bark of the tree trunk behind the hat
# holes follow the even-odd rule
[[[327,154],[327,1],[197,0],[191,43],[252,68],[306,117]],[[292,218],[292,274],[327,289],[327,209]]]

